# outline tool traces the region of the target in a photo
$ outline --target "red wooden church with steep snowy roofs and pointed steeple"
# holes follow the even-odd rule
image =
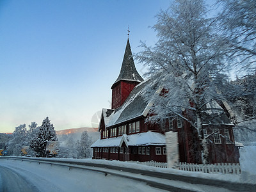
[[[112,107],[102,109],[100,139],[92,145],[93,159],[166,162],[164,132],[173,131],[178,133],[180,162],[201,163],[197,134],[188,122],[180,118],[167,119],[161,125],[145,122],[152,106],[143,99],[148,83],[150,80],[143,80],[135,68],[128,39],[120,74],[111,86]],[[206,119],[204,134],[216,132],[208,139],[209,163],[238,162],[228,114]]]

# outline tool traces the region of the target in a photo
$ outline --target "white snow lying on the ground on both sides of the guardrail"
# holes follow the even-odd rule
[[[107,161],[101,159],[58,159],[64,163],[67,161],[108,164],[113,166],[121,166],[127,168],[135,168],[138,170],[150,170],[161,173],[173,173],[176,175],[187,175],[197,178],[227,180],[232,182],[247,182],[256,183],[256,146],[241,147],[240,149],[240,164],[241,175],[231,175],[223,173],[201,173],[201,172],[186,172],[175,170],[172,168],[156,168],[143,164],[122,162],[122,161]],[[45,159],[45,158],[31,158]],[[49,160],[49,159],[48,159]],[[52,158],[54,160],[54,158]],[[26,180],[40,191],[161,191],[147,186],[144,182],[138,182],[114,175],[105,175],[100,172],[90,170],[79,170],[76,168],[68,169],[66,166],[51,166],[44,163],[29,163],[28,161],[13,161],[0,158],[0,167],[11,168],[14,172],[19,173]],[[141,175],[142,177],[142,175]],[[99,184],[100,183],[100,184]],[[1,172],[0,172],[0,186]],[[1,189],[1,188],[0,188]]]

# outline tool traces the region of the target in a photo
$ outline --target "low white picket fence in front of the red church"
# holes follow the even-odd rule
[[[154,166],[159,168],[167,168],[167,163],[156,161],[129,161],[131,163],[145,164],[147,166]],[[204,172],[204,173],[230,173],[240,174],[241,168],[239,163],[216,163],[216,164],[193,164],[193,163],[179,163],[177,169],[188,172]]]

